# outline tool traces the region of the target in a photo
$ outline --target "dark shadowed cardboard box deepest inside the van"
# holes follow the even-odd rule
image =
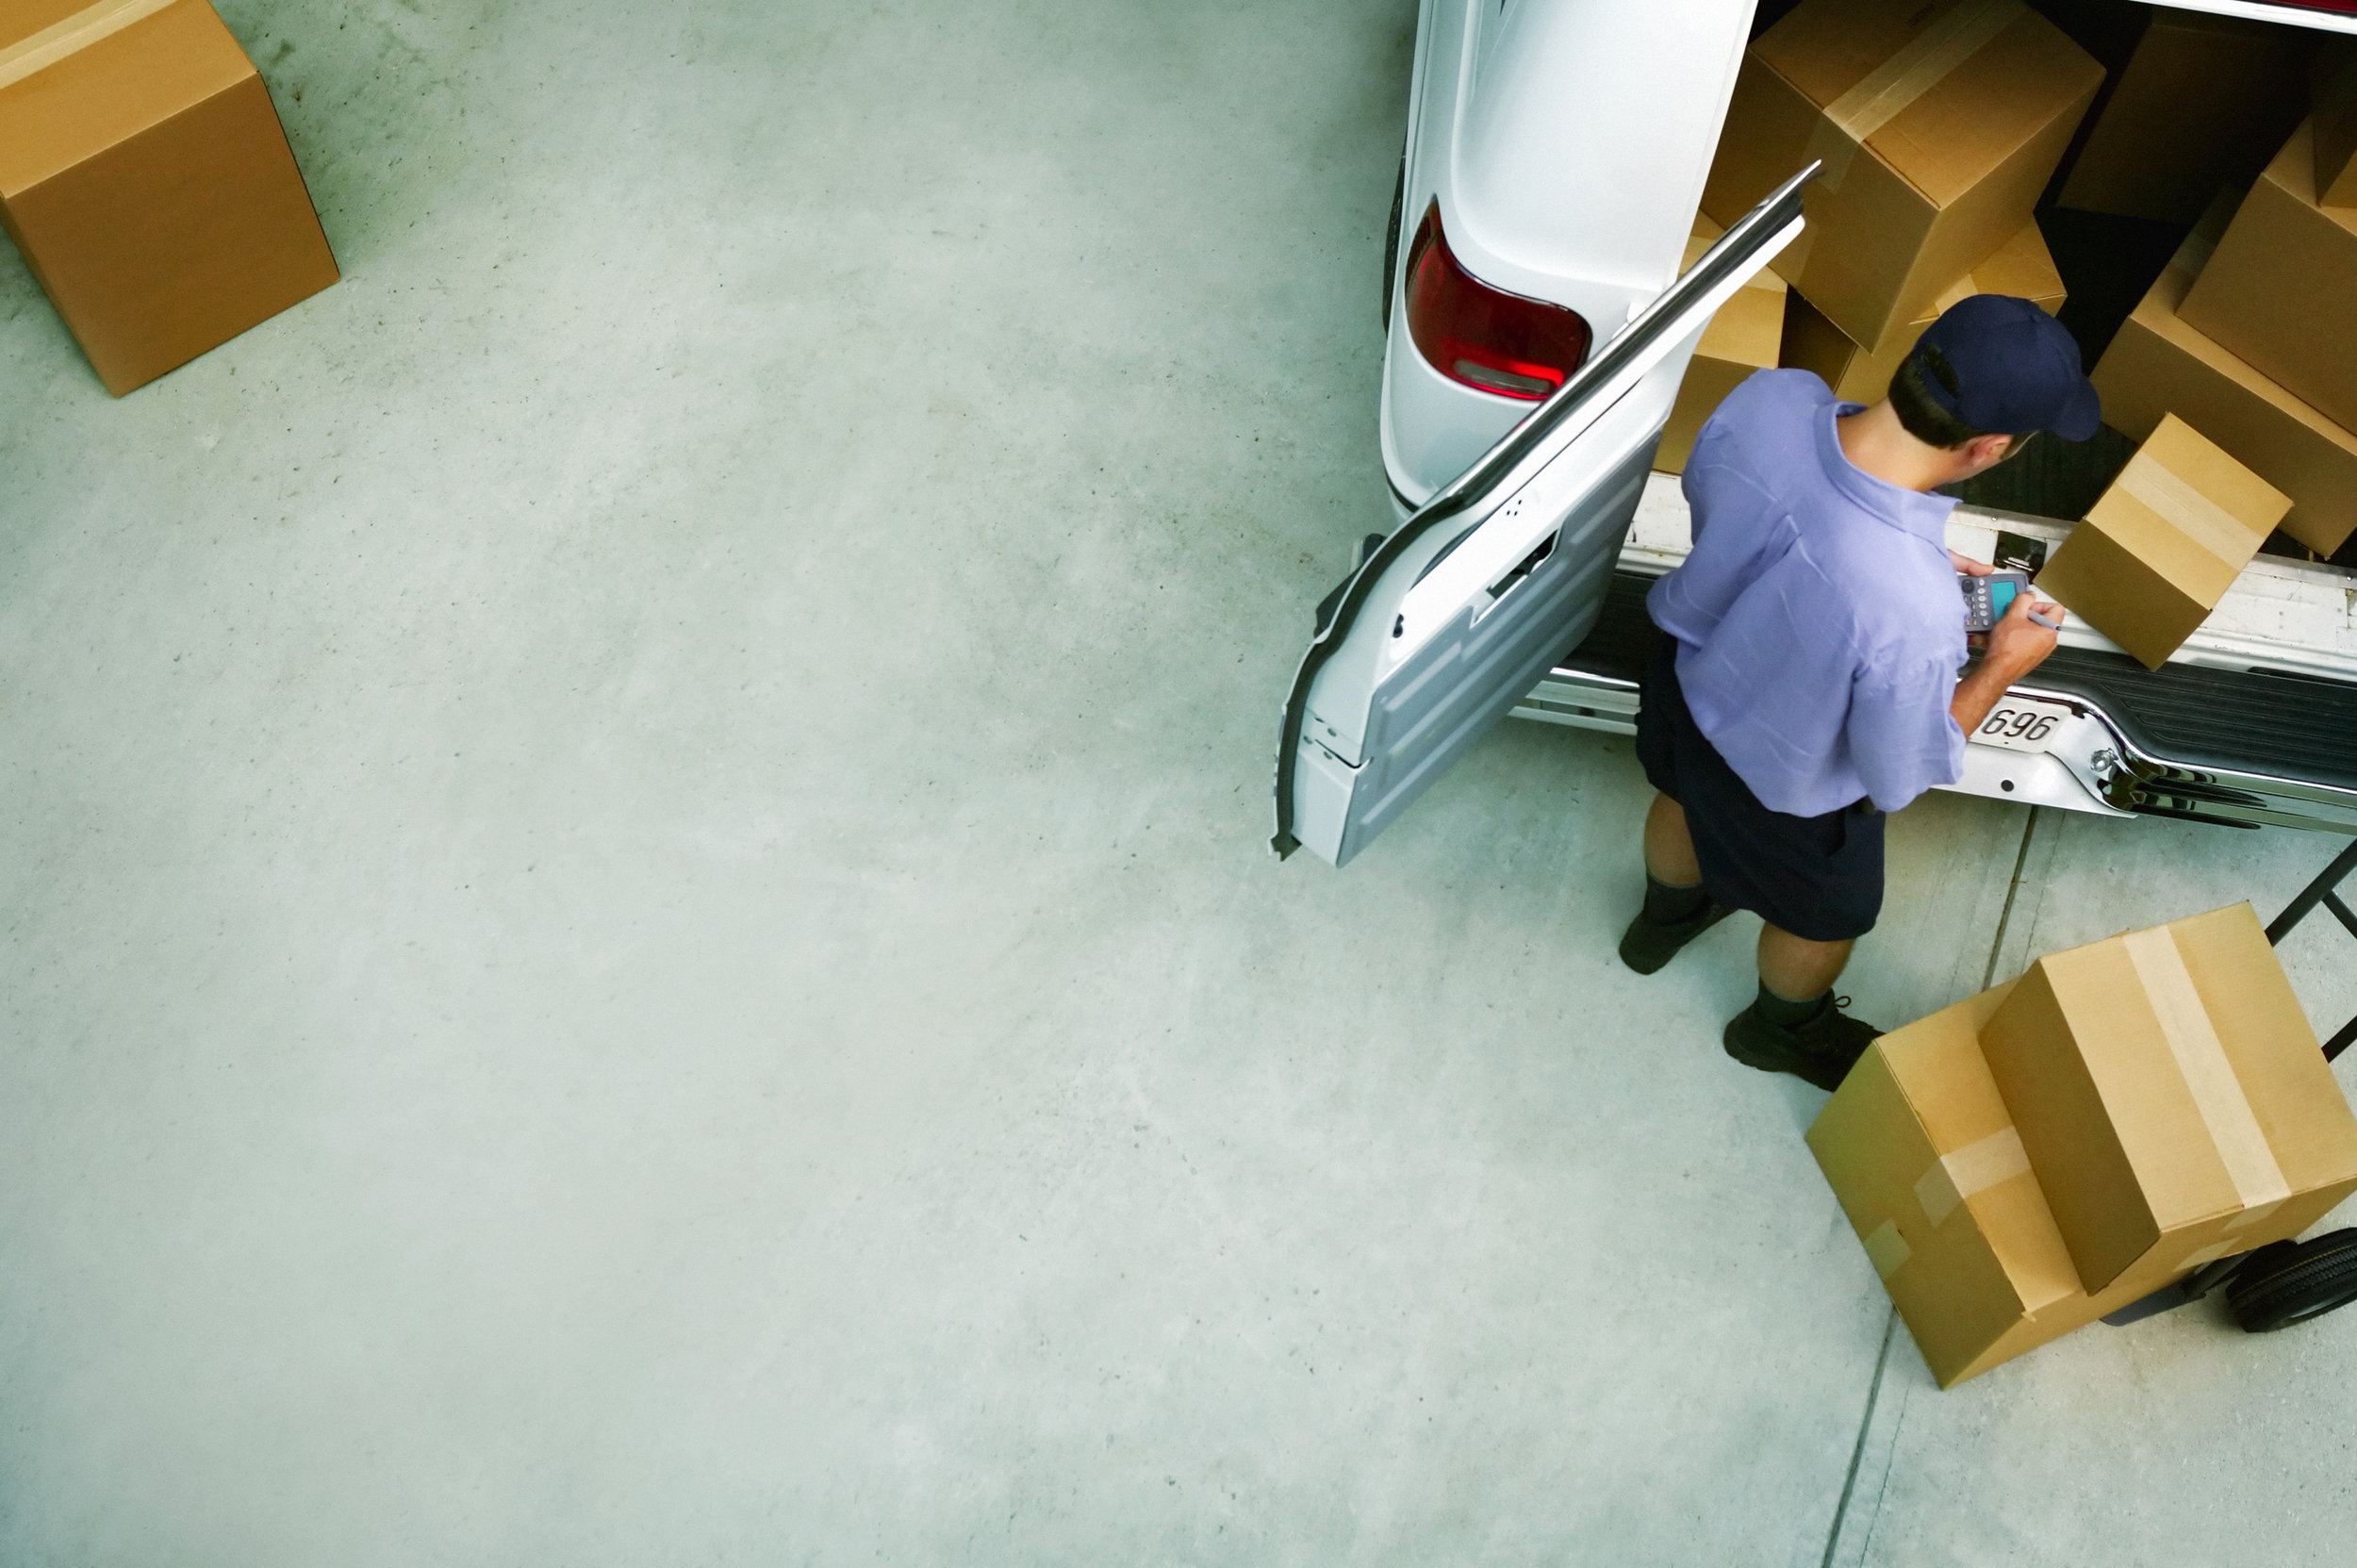
[[[2293,28],[2152,14],[2095,104],[2058,200],[2190,224],[2223,184],[2249,184],[2300,120],[2308,38]]]

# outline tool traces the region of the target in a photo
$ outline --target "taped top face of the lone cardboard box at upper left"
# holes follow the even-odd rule
[[[0,198],[252,75],[205,0],[99,0],[0,52]]]

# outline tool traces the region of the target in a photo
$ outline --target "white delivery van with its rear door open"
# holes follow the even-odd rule
[[[2357,33],[2357,14],[2190,9]],[[1676,278],[1751,0],[1424,0],[1384,274],[1400,526],[1318,606],[1277,854],[1341,865],[1497,719],[1633,733],[1643,594],[1688,547],[1655,443],[1711,311],[1801,231],[1801,179]],[[1671,283],[1671,278],[1676,278]],[[2058,519],[1959,507],[1949,545]],[[2357,573],[2260,556],[2161,670],[2077,618],[1954,785],[2072,811],[2357,832]]]

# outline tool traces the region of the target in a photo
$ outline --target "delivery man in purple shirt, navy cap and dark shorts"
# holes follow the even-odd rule
[[[1652,974],[1754,910],[1758,997],[1728,1054],[1831,1089],[1879,1035],[1834,981],[1883,903],[1883,813],[1963,771],[1963,738],[2055,646],[2060,613],[2015,597],[1966,665],[1954,500],[2036,431],[2095,434],[2100,406],[2062,325],[1975,295],[1935,321],[1874,408],[1805,370],[1761,370],[1695,441],[1695,549],[1645,608],[1664,632],[1636,750],[1645,908],[1622,960]]]

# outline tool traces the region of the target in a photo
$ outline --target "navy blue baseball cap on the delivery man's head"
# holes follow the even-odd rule
[[[2086,441],[2102,424],[2102,398],[2079,368],[2079,340],[2060,321],[2013,295],[1973,295],[1923,328],[1956,373],[1956,391],[1923,368],[1930,401],[1992,436],[2051,429]]]

